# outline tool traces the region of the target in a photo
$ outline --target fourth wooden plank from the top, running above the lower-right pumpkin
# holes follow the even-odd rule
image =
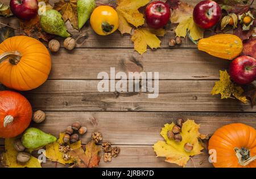
[[[80,121],[88,132],[81,138],[86,144],[94,131],[100,131],[104,141],[122,145],[150,145],[163,140],[160,131],[165,123],[177,118],[188,118],[200,123],[201,134],[213,134],[219,127],[228,123],[242,122],[256,127],[256,113],[171,113],[171,112],[46,112],[46,121],[32,122],[56,137],[64,132],[72,122]],[[0,140],[3,145],[3,139]]]

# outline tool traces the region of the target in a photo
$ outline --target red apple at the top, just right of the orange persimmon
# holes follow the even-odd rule
[[[154,1],[147,5],[145,19],[151,28],[162,28],[170,19],[171,11],[169,6],[162,1]]]

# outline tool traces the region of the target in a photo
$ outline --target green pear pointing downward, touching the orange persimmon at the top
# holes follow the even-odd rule
[[[78,0],[77,1],[77,14],[78,14],[78,22],[79,29],[87,22],[90,18],[90,14],[96,7],[96,3],[94,0]]]

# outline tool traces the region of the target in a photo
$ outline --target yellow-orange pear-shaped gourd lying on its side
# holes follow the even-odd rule
[[[220,34],[200,39],[197,48],[214,57],[234,59],[243,50],[242,40],[231,34]]]

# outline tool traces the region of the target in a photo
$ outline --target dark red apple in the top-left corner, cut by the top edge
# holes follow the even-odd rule
[[[30,20],[38,14],[38,1],[36,0],[11,0],[10,8],[13,14],[22,20]]]

